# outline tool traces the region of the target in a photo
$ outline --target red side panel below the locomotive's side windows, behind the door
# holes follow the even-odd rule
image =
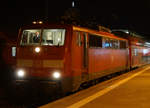
[[[117,67],[128,66],[127,50],[90,49],[89,71],[100,72]]]

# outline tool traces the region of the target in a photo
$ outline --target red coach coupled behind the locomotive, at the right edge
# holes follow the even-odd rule
[[[114,34],[129,41],[130,67],[140,67],[149,63],[150,44],[144,37],[128,30],[112,30]]]

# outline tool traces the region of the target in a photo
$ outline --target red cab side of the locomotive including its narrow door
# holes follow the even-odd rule
[[[86,33],[73,31],[71,44],[71,70],[73,88],[88,80],[88,37]]]

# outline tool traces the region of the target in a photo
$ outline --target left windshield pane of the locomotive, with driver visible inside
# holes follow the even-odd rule
[[[40,29],[29,29],[23,30],[21,36],[21,45],[38,45],[40,44],[41,38],[41,30]]]

